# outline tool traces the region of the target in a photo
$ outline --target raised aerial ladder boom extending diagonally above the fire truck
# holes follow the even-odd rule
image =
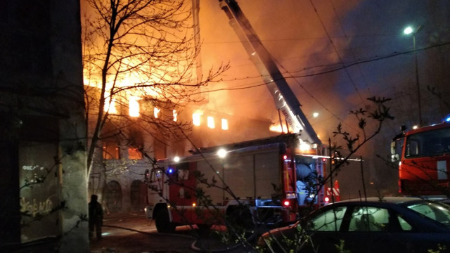
[[[262,45],[250,22],[245,18],[238,3],[235,0],[219,0],[219,2],[221,9],[225,11],[229,18],[231,27],[238,35],[250,59],[274,97],[276,108],[283,114],[290,129],[294,133],[300,133],[302,141],[321,145],[316,132],[300,109],[297,97],[290,89],[269,51]]]

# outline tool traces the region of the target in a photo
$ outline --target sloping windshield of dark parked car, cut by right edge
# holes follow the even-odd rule
[[[428,217],[450,227],[450,206],[437,202],[420,202],[407,206],[418,212],[421,216]]]

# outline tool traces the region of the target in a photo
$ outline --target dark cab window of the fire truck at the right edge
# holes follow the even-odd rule
[[[450,129],[412,134],[406,139],[405,157],[437,156],[450,153]]]

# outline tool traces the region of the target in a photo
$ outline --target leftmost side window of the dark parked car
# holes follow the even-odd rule
[[[339,231],[347,207],[335,207],[311,219],[314,231]]]

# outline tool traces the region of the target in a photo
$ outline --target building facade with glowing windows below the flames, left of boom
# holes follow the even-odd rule
[[[153,111],[145,103],[139,105]],[[128,111],[129,106],[122,107],[118,110]],[[110,116],[101,134],[105,137],[98,143],[88,186],[89,194],[99,196],[106,215],[120,212],[142,214],[149,203],[158,199],[158,193],[143,182],[146,169],[155,166],[155,160],[190,155],[189,151],[195,148],[276,135],[269,131],[269,121],[232,117],[211,110],[198,115],[199,111],[184,108],[176,115],[176,120],[190,124],[183,130],[187,138],[179,140],[146,129],[143,127],[146,122],[139,116]],[[162,110],[161,115],[166,115],[165,120],[174,120],[172,111]],[[119,122],[122,126],[117,128]]]

